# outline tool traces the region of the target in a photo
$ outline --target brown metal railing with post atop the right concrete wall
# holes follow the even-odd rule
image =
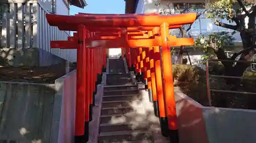
[[[236,100],[245,100],[248,102],[249,99],[256,99],[256,72],[251,70],[245,70],[244,75],[232,76],[232,72],[222,70],[222,73],[216,73],[215,69],[225,68],[222,63],[231,64],[234,67],[236,64],[252,64],[256,62],[246,61],[232,61],[232,60],[209,60],[206,62],[206,81],[207,81],[207,97],[208,104],[212,106],[212,96],[219,94],[219,97],[233,96]],[[227,73],[224,73],[227,72]],[[230,75],[230,76],[229,76]],[[241,98],[242,96],[250,96]],[[253,96],[251,96],[253,95]],[[234,101],[232,101],[234,102]],[[250,102],[250,101],[249,101]],[[241,101],[242,103],[242,101]]]

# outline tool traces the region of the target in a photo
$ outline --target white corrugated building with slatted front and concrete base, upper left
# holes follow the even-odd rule
[[[50,26],[45,16],[69,15],[70,5],[87,4],[85,0],[0,0],[0,64],[1,60],[14,66],[76,62],[75,49],[51,49],[51,40],[67,40],[70,32]]]

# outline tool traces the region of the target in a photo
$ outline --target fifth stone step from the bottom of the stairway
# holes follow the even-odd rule
[[[108,107],[125,107],[125,106],[133,106],[133,104],[142,104],[140,100],[134,100],[134,101],[105,101],[102,102],[102,108],[108,108]]]

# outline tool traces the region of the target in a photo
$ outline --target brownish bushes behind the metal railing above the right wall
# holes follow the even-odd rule
[[[221,64],[212,65],[210,74],[221,75],[224,67]],[[190,65],[173,65],[174,78],[177,86],[189,97],[200,104],[208,106],[206,72],[200,67]],[[256,72],[246,71],[240,85],[228,85],[223,77],[210,80],[210,88],[223,91],[240,91],[256,93]],[[249,79],[248,79],[249,78]],[[256,95],[228,92],[210,92],[211,104],[217,107],[256,109]]]

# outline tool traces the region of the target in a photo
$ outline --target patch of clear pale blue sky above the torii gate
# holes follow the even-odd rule
[[[86,0],[88,6],[80,9],[74,6],[70,7],[70,15],[83,13],[102,13],[102,14],[124,14],[124,0]]]

